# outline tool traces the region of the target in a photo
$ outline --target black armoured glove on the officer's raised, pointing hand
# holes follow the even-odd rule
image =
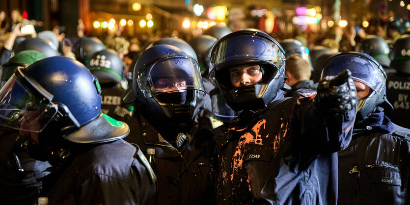
[[[356,106],[356,87],[349,70],[336,77],[326,77],[319,82],[318,109],[324,113],[346,113]]]

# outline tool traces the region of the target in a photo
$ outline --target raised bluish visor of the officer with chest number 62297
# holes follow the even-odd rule
[[[380,94],[386,83],[385,73],[380,65],[378,67],[376,63],[369,61],[369,59],[358,55],[340,55],[325,65],[321,78],[336,76],[349,69],[352,72],[353,80],[369,86],[377,94]]]

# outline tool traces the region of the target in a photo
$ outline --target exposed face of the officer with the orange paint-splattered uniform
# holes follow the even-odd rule
[[[229,69],[233,87],[253,85],[262,81],[262,71],[259,65],[242,65]]]

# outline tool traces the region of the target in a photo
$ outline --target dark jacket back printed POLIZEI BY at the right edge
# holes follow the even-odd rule
[[[386,89],[387,99],[394,107],[387,116],[395,124],[410,128],[410,74],[388,74]]]

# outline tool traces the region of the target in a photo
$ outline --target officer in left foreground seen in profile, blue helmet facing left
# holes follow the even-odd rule
[[[41,190],[49,204],[143,204],[154,189],[143,154],[122,140],[128,125],[101,113],[100,92],[66,57],[18,68],[1,90],[0,124],[19,129],[30,156],[53,165]]]

